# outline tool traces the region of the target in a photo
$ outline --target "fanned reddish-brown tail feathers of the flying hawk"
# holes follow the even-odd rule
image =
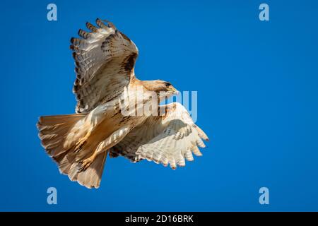
[[[73,152],[73,145],[76,143],[74,128],[81,130],[81,123],[86,114],[65,114],[40,117],[37,122],[39,137],[47,154],[57,162],[59,171],[67,174],[71,181],[88,188],[98,188],[102,171],[104,169],[107,152],[100,153],[94,162],[85,171],[79,170],[79,162],[76,153]],[[76,131],[76,130],[75,130]],[[73,139],[71,139],[73,138]],[[70,139],[72,141],[70,141]]]

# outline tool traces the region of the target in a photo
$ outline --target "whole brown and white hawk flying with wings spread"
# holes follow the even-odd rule
[[[80,29],[82,38],[71,38],[76,114],[43,116],[37,122],[42,146],[59,171],[71,181],[98,188],[107,154],[172,169],[194,160],[192,153],[200,156],[201,138],[208,137],[187,109],[177,102],[159,105],[177,90],[165,81],[136,78],[134,42],[107,20],[97,19],[96,24],[86,23],[90,32]],[[144,106],[151,106],[148,114]]]

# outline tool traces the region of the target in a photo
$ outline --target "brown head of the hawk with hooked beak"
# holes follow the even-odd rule
[[[179,93],[171,83],[162,80],[143,81],[143,86],[145,86],[147,90],[157,93],[158,97],[171,97]]]

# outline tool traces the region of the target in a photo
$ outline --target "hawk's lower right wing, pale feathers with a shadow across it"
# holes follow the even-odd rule
[[[179,103],[161,107],[165,115],[148,117],[110,150],[110,157],[123,155],[132,162],[146,159],[176,169],[185,165],[185,159],[194,160],[192,153],[201,156],[198,146],[204,148],[201,138],[208,141],[208,137],[187,109]]]

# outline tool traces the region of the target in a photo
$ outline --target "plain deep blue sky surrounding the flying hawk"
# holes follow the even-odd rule
[[[58,20],[46,18],[57,4]],[[270,20],[259,20],[259,4]],[[317,1],[2,1],[0,210],[318,210]],[[136,75],[198,91],[204,156],[172,171],[108,159],[100,189],[59,171],[37,117],[71,114],[69,40],[111,20],[139,48]],[[47,204],[47,188],[58,204]],[[270,204],[259,204],[266,186]]]

